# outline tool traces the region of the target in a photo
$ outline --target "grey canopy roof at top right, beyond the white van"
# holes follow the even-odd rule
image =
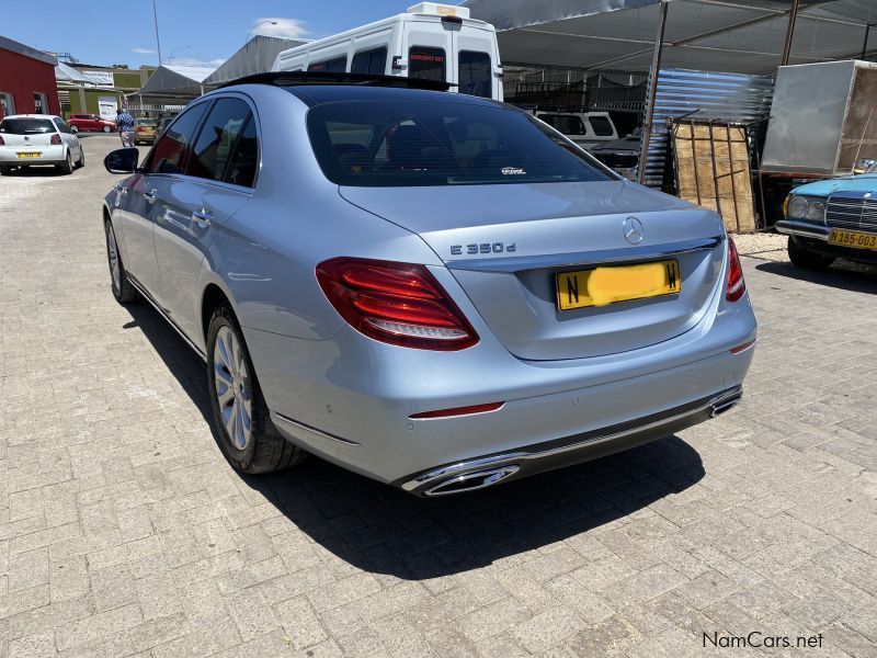
[[[648,71],[660,0],[467,0],[493,23],[503,64]],[[774,72],[789,0],[669,0],[663,68]],[[862,54],[875,0],[801,0],[789,64]],[[874,31],[877,52],[877,30]]]

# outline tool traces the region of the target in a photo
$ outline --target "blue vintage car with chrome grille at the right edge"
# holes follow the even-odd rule
[[[877,164],[796,188],[783,211],[776,229],[789,236],[788,256],[799,268],[824,270],[838,258],[877,263]]]

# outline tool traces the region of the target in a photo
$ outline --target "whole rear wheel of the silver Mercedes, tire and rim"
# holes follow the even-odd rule
[[[235,469],[270,473],[305,458],[271,421],[240,326],[226,305],[216,308],[207,331],[207,389],[214,431]]]

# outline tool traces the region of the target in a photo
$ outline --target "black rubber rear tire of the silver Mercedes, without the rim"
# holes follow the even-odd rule
[[[230,330],[234,334],[248,374],[247,385],[242,389],[241,396],[249,395],[252,418],[250,419],[250,438],[242,450],[235,445],[226,429],[217,395],[217,367],[221,370],[223,364],[216,361],[216,342],[220,331],[227,334],[224,329]],[[250,360],[250,352],[243,340],[243,333],[235,314],[225,304],[220,304],[214,310],[207,330],[207,393],[210,398],[210,423],[223,453],[236,470],[248,474],[271,473],[298,464],[307,456],[307,453],[300,447],[286,441],[271,421],[265,398],[262,396],[262,389]]]

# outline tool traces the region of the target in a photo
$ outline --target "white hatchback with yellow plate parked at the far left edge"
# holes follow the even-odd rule
[[[0,173],[54,164],[65,173],[86,166],[79,138],[60,116],[12,114],[0,121]]]

